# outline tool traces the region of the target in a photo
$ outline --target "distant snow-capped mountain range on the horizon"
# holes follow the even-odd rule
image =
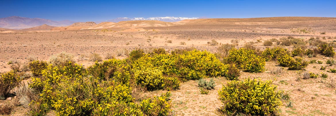
[[[106,21],[96,21],[97,23],[100,22],[120,22],[120,21],[129,21],[129,20],[159,20],[159,21],[165,21],[165,22],[176,22],[176,21],[181,21],[185,19],[198,19],[198,17],[150,17],[150,18],[143,18],[143,17],[135,17],[135,18],[128,18],[128,17],[119,17],[111,20],[106,20]]]

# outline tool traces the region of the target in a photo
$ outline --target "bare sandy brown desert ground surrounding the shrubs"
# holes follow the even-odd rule
[[[0,73],[10,71],[9,61],[28,63],[27,58],[37,57],[39,60],[48,61],[49,58],[62,51],[72,53],[77,63],[90,66],[93,62],[79,60],[80,55],[92,53],[100,54],[104,59],[106,54],[117,55],[122,49],[133,50],[135,48],[152,49],[163,47],[170,51],[176,48],[195,47],[199,50],[207,50],[215,53],[220,46],[210,46],[208,41],[215,39],[218,43],[232,43],[237,39],[238,46],[243,46],[250,41],[262,42],[271,38],[294,36],[308,40],[310,37],[320,38],[323,41],[333,41],[336,36],[336,18],[259,18],[259,19],[202,19],[185,20],[178,22],[182,25],[165,27],[129,27],[129,28],[107,28],[91,30],[70,30],[70,31],[30,31],[30,32],[0,32]],[[112,24],[112,23],[111,23]],[[114,23],[113,23],[114,24]],[[126,24],[125,24],[126,25]],[[309,33],[301,32],[305,29]],[[320,34],[326,32],[326,34]],[[332,39],[328,39],[328,37]],[[167,41],[171,40],[171,43]],[[185,42],[185,45],[181,44]],[[262,42],[253,45],[261,49]],[[273,46],[276,46],[275,44]],[[290,47],[286,47],[290,48]],[[123,59],[126,56],[116,56]],[[260,78],[261,80],[274,80],[279,90],[288,92],[291,96],[290,102],[293,107],[286,107],[288,103],[281,106],[281,115],[336,115],[336,93],[335,88],[330,88],[331,78],[336,78],[335,73],[326,72],[335,66],[328,66],[325,71],[320,70],[321,66],[327,66],[327,57],[318,57],[305,60],[320,60],[323,64],[309,64],[306,71],[313,73],[326,73],[328,78],[322,80],[308,79],[295,81],[301,77],[300,71],[289,71],[286,68],[282,74],[270,74],[270,71],[277,68],[278,63],[266,62],[266,71],[263,73],[241,72],[240,80]],[[215,78],[215,90],[208,95],[200,94],[197,82],[188,81],[181,83],[179,90],[171,91],[172,109],[177,115],[198,115],[213,116],[216,108],[223,104],[217,99],[218,91],[228,81],[224,78]],[[164,91],[146,92],[147,95],[159,95]],[[7,100],[8,101],[8,100]],[[0,103],[5,103],[0,101]],[[12,115],[24,115],[22,107],[16,107]]]

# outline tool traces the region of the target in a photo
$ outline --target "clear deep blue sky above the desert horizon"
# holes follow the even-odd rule
[[[0,0],[0,18],[100,21],[117,17],[336,17],[336,0]]]

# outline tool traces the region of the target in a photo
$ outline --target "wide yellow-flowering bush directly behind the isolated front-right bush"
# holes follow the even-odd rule
[[[233,48],[226,57],[227,62],[237,64],[238,68],[246,72],[260,73],[265,68],[265,59],[255,54],[254,50]]]

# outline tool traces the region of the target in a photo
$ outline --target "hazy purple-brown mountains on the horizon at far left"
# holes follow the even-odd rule
[[[42,18],[27,18],[19,16],[10,16],[5,18],[0,18],[0,27],[7,29],[25,29],[47,24],[50,26],[68,26],[75,23],[75,21],[63,20],[63,21],[53,21],[49,19]]]

